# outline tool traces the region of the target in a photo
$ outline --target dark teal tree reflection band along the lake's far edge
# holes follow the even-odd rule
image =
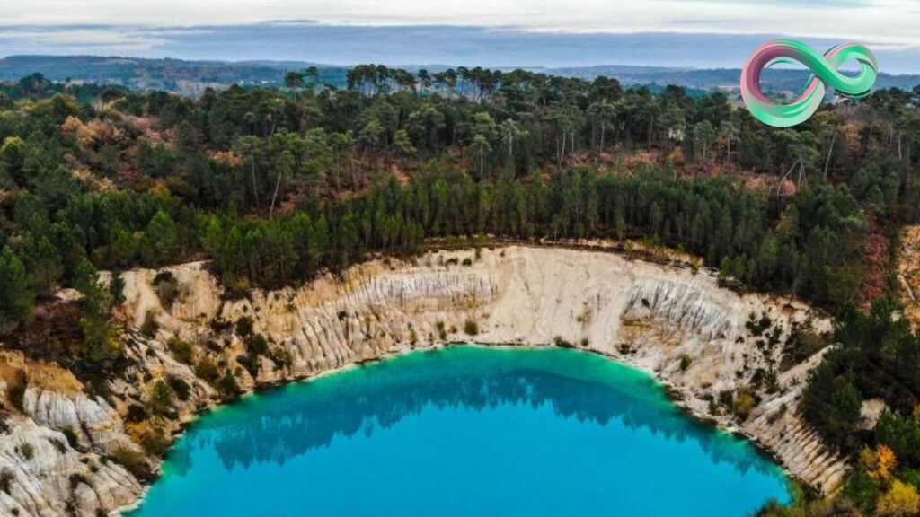
[[[372,435],[424,408],[481,411],[548,405],[561,419],[605,426],[619,420],[669,440],[698,442],[708,457],[775,474],[747,442],[688,419],[646,373],[575,350],[454,347],[411,353],[343,373],[274,388],[202,417],[170,452],[174,472],[213,447],[226,469],[285,461],[337,436]]]

